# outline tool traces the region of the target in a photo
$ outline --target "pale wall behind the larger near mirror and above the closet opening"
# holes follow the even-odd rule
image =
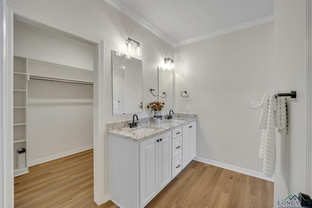
[[[174,57],[174,48],[151,32],[118,12],[103,0],[10,0],[41,17],[54,19],[85,34],[103,39],[104,43],[104,122],[130,120],[133,114],[113,116],[112,104],[112,63],[111,50],[125,53],[125,40],[137,40],[143,48],[143,112],[139,118],[152,115],[146,109],[147,103],[154,101],[150,89],[157,89],[157,66],[165,57]],[[126,54],[126,53],[125,53]],[[109,191],[108,134],[103,135],[105,147],[105,194]]]

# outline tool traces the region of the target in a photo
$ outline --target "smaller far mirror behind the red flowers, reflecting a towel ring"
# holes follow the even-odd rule
[[[165,103],[163,109],[173,109],[173,71],[158,66],[158,100]]]

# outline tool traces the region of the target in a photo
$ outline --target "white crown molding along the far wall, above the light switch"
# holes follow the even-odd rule
[[[183,40],[183,41],[177,42],[175,44],[175,47],[186,45],[186,44],[189,44],[189,43],[197,42],[197,41],[208,39],[208,38],[213,38],[213,37],[224,35],[224,34],[227,34],[227,33],[232,33],[234,31],[246,29],[246,28],[249,28],[249,27],[254,27],[254,26],[257,26],[257,25],[260,25],[260,24],[265,24],[265,23],[272,22],[272,21],[273,21],[273,15],[269,15],[269,16],[266,16],[266,17],[263,17],[263,18],[254,19],[254,20],[251,20],[251,21],[247,21],[247,22],[243,22],[243,23],[240,23],[240,24],[236,24],[234,26],[230,26],[230,27],[226,27],[226,28],[223,28],[223,29],[220,29],[220,30],[216,30],[214,32],[207,33],[207,34],[204,34],[204,35],[201,35],[201,36],[197,36],[195,38],[190,38],[190,39],[187,39],[187,40]]]

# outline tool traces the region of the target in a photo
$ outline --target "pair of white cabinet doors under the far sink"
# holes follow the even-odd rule
[[[182,169],[196,156],[196,122],[182,127]]]

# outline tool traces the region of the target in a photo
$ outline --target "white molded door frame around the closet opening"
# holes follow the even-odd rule
[[[52,27],[59,31],[71,34],[73,36],[86,39],[94,43],[94,90],[93,90],[93,145],[94,145],[94,201],[100,205],[105,203],[109,198],[105,195],[104,190],[104,41],[102,39],[90,36],[88,34],[77,31],[67,25],[56,22],[52,19],[47,19],[32,11],[26,10],[11,2],[6,2],[7,12],[7,67],[4,68],[7,82],[4,83],[6,88],[3,100],[4,108],[7,116],[4,122],[6,123],[6,137],[3,138],[4,143],[7,143],[7,166],[4,167],[6,175],[6,194],[7,207],[14,207],[14,167],[13,167],[13,23],[14,15],[22,18],[30,19],[39,22],[43,25]],[[2,178],[2,177],[1,177]],[[106,190],[107,192],[107,190]]]

